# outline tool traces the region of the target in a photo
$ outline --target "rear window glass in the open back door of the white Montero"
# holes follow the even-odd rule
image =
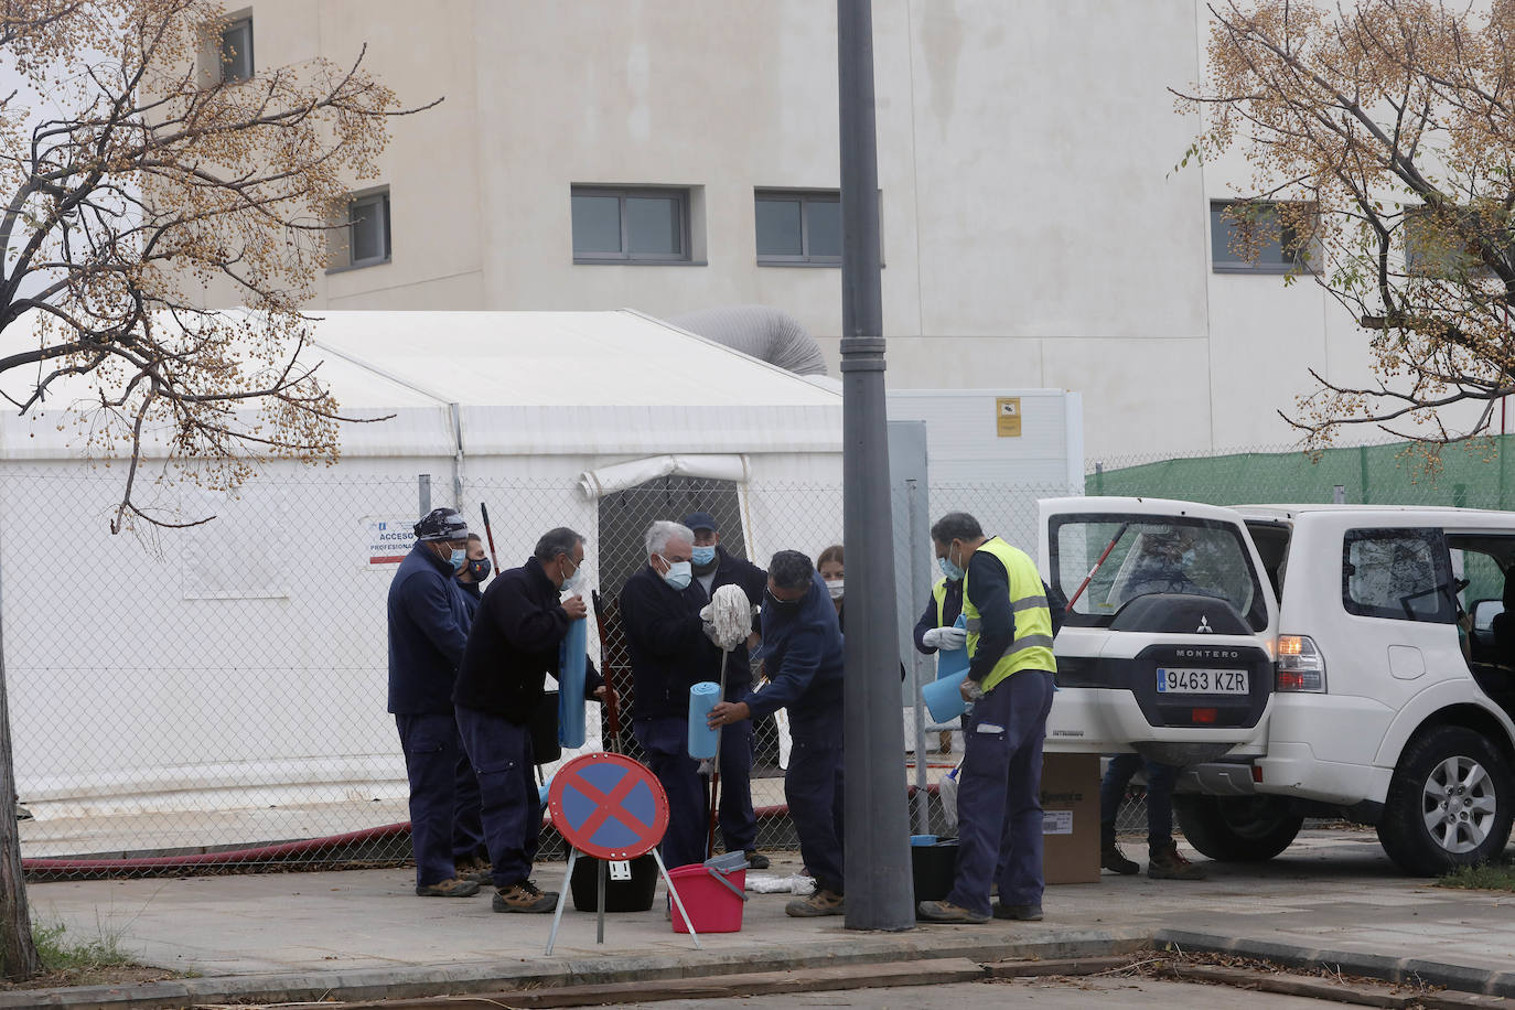
[[[1050,560],[1056,588],[1070,600],[1094,569],[1068,610],[1068,624],[1107,625],[1130,600],[1173,592],[1226,600],[1253,630],[1268,625],[1251,556],[1229,522],[1150,515],[1054,518]]]

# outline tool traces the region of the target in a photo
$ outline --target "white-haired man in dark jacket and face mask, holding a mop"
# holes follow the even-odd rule
[[[632,656],[632,734],[668,793],[668,866],[704,862],[704,784],[689,757],[689,687],[720,671],[704,636],[711,600],[691,569],[694,533],[679,522],[647,528],[647,565],[621,589],[621,622]]]

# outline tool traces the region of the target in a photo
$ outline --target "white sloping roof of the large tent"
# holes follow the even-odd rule
[[[29,327],[11,327],[21,350]],[[345,456],[761,453],[841,450],[841,397],[806,379],[639,312],[312,312],[312,347],[348,416]],[[24,371],[24,369],[23,369]],[[0,388],[24,398],[35,374]],[[47,410],[0,421],[0,459],[79,453],[58,407],[89,398],[55,386]]]

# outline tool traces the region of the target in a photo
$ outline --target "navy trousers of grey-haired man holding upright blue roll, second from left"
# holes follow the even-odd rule
[[[542,801],[532,777],[532,731],[467,706],[458,706],[458,728],[479,777],[494,886],[511,887],[530,878],[542,833]]]

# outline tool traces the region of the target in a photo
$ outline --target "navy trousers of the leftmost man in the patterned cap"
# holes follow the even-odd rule
[[[405,774],[411,780],[411,848],[415,886],[451,880],[458,860],[479,856],[479,780],[451,715],[397,715]]]

